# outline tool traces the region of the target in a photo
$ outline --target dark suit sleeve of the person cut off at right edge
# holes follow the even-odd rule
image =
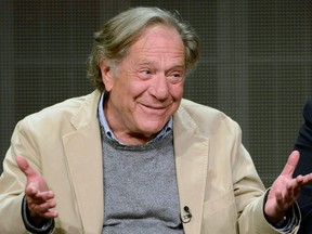
[[[294,177],[312,172],[312,99],[303,108],[304,122],[299,130],[295,150],[300,152],[300,159]],[[312,234],[312,184],[306,185],[298,198],[302,223],[298,234]]]

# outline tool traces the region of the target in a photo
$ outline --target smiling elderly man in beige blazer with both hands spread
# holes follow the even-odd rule
[[[0,233],[295,233],[294,152],[264,192],[236,122],[183,100],[188,24],[135,8],[96,34],[96,90],[20,121],[0,180]],[[22,210],[22,212],[21,212]]]

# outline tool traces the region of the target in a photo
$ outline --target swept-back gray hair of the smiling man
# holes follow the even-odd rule
[[[116,15],[95,32],[88,61],[88,77],[96,89],[105,90],[100,69],[103,58],[108,60],[110,65],[116,65],[126,56],[129,47],[144,28],[158,24],[173,27],[180,34],[185,47],[186,73],[196,66],[199,57],[199,39],[178,12],[171,13],[158,8],[134,8]]]

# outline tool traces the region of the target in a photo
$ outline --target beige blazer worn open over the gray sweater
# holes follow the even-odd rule
[[[25,177],[16,155],[27,157],[56,194],[60,217],[53,233],[101,234],[99,100],[100,92],[94,91],[16,125],[0,178],[1,234],[27,233],[21,218]],[[173,116],[173,138],[181,213],[185,214],[184,206],[192,213],[183,224],[186,234],[278,233],[263,217],[264,187],[236,122],[219,110],[183,100]]]

